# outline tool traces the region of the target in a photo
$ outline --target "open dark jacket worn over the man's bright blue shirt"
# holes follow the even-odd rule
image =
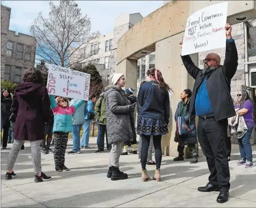
[[[190,76],[196,80],[190,98],[189,117],[191,117],[196,113],[194,103],[197,90],[206,76],[202,74],[202,70],[194,65],[189,55],[181,56],[181,59]],[[217,70],[208,75],[206,89],[217,121],[235,116],[234,105],[230,95],[230,83],[237,71],[237,61],[238,55],[235,42],[226,42],[226,55],[223,66],[218,67]]]

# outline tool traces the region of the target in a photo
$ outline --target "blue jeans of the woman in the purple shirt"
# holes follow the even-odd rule
[[[250,137],[253,127],[248,127],[247,132],[242,138],[238,138],[241,159],[253,162],[253,151],[251,150]]]

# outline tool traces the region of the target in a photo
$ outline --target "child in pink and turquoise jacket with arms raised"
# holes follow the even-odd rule
[[[84,100],[78,100],[71,106],[68,106],[67,97],[58,97],[55,100],[50,95],[51,109],[54,112],[54,162],[56,172],[69,170],[65,165],[65,152],[67,149],[68,133],[72,132],[72,115],[84,104]]]

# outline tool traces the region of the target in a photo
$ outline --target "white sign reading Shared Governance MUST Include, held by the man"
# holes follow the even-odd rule
[[[196,11],[186,21],[181,55],[226,47],[227,2]]]

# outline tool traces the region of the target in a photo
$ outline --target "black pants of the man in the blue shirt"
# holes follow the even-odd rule
[[[227,119],[216,121],[200,118],[197,133],[210,170],[209,182],[218,186],[220,191],[229,191],[230,173],[226,152]]]

